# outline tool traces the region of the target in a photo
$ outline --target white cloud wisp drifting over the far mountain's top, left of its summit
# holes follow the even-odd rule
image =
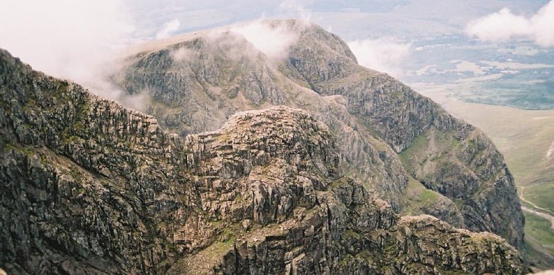
[[[304,24],[307,24],[299,22],[291,25],[287,21],[258,19],[233,26],[231,32],[242,35],[270,59],[281,59],[287,57],[290,46],[298,40],[301,30],[306,26]]]

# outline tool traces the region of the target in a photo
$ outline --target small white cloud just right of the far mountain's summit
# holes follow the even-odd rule
[[[348,46],[361,66],[391,76],[402,75],[402,63],[411,51],[410,44],[392,38],[355,40],[348,42]]]

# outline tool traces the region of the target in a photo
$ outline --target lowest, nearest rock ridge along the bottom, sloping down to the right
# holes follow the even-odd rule
[[[519,253],[499,236],[425,215],[397,220],[386,202],[369,199],[351,180],[339,179],[319,202],[279,227],[238,233],[179,260],[168,274],[524,272]]]

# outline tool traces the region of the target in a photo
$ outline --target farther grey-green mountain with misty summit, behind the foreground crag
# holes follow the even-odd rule
[[[523,247],[512,176],[479,130],[394,78],[359,66],[339,37],[318,26],[261,24],[296,34],[287,57],[268,57],[224,28],[145,45],[125,59],[114,82],[150,96],[148,114],[181,136],[216,130],[239,111],[305,109],[330,128],[346,174],[395,211],[492,231]],[[432,201],[409,195],[420,188]]]

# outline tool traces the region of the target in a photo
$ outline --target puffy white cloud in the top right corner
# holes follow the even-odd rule
[[[540,46],[554,46],[554,0],[532,15],[513,14],[508,8],[467,24],[465,33],[486,42],[508,41],[521,37]]]

